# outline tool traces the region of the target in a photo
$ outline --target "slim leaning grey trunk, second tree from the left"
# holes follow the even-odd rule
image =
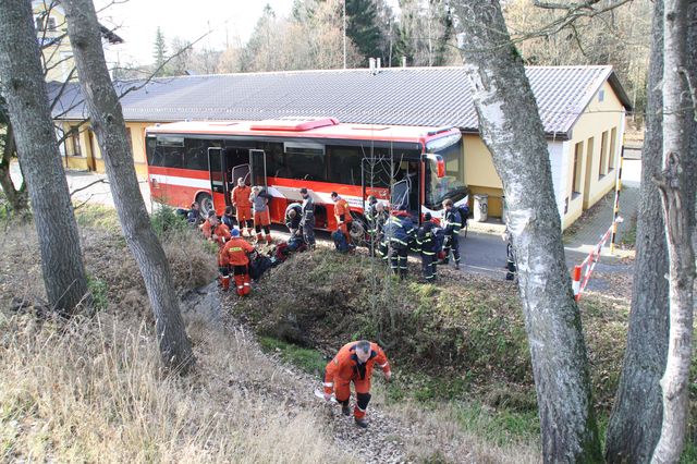
[[[162,358],[168,366],[186,370],[194,364],[191,342],[169,262],[138,188],[121,103],[105,62],[95,7],[90,0],[66,0],[63,5],[80,85],[103,155],[123,234],[145,280]]]

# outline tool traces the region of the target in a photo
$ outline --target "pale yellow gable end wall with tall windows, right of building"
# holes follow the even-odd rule
[[[572,138],[568,144],[568,169],[566,172],[567,185],[566,195],[570,198],[568,210],[563,218],[564,227],[571,225],[584,209],[591,207],[604,194],[614,186],[616,175],[616,164],[620,159],[622,147],[622,131],[624,129],[624,108],[622,102],[612,90],[609,83],[601,87],[604,93],[603,101],[599,101],[599,93],[596,94],[578,121],[574,124]],[[612,129],[615,127],[614,141],[614,164],[609,166]],[[606,156],[601,157],[602,134],[608,132],[606,141]],[[580,190],[579,195],[574,195],[574,148],[577,143],[583,143],[580,162]],[[592,149],[589,145],[592,144]],[[600,175],[600,160],[604,161],[603,175]]]

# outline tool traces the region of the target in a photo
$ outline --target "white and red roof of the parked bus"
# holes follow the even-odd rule
[[[334,118],[288,118],[265,121],[184,121],[147,127],[148,134],[307,137],[427,143],[457,134],[455,127],[389,124],[342,124]]]

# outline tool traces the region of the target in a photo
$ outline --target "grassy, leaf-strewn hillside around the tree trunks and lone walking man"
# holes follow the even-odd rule
[[[95,307],[42,305],[33,227],[0,252],[0,456],[32,461],[537,462],[539,432],[516,290],[454,271],[399,282],[360,253],[291,257],[248,298],[215,284],[213,249],[155,218],[174,269],[197,367],[164,376],[143,282],[113,212],[78,210]],[[416,266],[411,269],[416,272]],[[582,304],[597,410],[609,412],[627,301]],[[343,343],[379,340],[367,432],[317,400]]]

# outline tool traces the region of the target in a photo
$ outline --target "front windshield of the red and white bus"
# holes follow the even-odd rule
[[[460,180],[465,179],[462,135],[454,134],[429,142],[426,145],[426,151],[440,155],[445,162],[445,175],[442,178],[438,176],[436,161],[426,162],[426,207],[438,210],[442,207],[443,200],[448,198],[453,202],[464,198],[468,191]]]

